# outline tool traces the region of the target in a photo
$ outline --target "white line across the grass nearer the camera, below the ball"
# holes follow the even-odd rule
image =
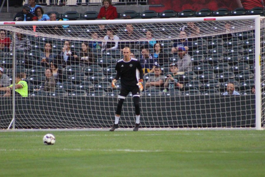
[[[193,151],[193,150],[134,150],[134,149],[37,149],[41,151],[103,151],[103,152],[132,152],[132,153],[154,153],[154,152],[175,152],[175,153],[265,153],[265,151]],[[0,149],[7,152],[36,151],[36,149]]]

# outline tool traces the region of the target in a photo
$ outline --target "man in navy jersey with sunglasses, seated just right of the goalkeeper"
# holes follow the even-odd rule
[[[143,72],[145,75],[147,75],[148,73],[153,73],[155,66],[159,66],[157,60],[154,58],[154,55],[149,53],[148,47],[142,49],[140,63],[142,65]]]

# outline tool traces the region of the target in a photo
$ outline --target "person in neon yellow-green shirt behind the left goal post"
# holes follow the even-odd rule
[[[24,74],[16,74],[16,84],[15,84],[15,96],[28,96],[28,84],[26,81],[21,80],[22,76]],[[8,87],[2,87],[0,88],[0,91],[6,91],[4,96],[11,96],[13,89],[13,84],[11,84]]]

